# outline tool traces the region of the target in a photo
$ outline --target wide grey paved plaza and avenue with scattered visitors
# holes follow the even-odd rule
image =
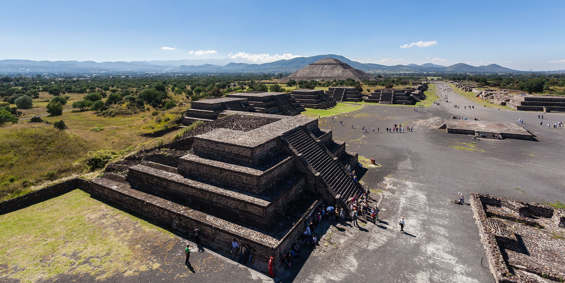
[[[493,282],[470,207],[451,201],[458,199],[458,192],[465,203],[471,192],[525,202],[563,201],[565,129],[546,124],[565,121],[565,114],[544,114],[545,126],[540,126],[540,112],[496,110],[453,92],[438,94],[448,94],[451,103],[440,99],[440,105],[416,107],[417,112],[411,106],[367,104],[333,121],[320,119],[320,128],[333,130],[333,138],[345,141],[348,151],[357,151],[362,163],[374,158],[378,164],[364,162],[357,175],[371,189],[371,201],[381,209],[380,221],[375,225],[365,219],[359,226],[324,221],[315,230],[322,235],[316,249],[304,247],[303,260],[294,259],[290,271],[277,274],[275,282]],[[438,123],[451,116],[515,124],[523,119],[519,125],[536,141],[472,141],[471,136],[438,129]],[[413,131],[385,132],[394,124]],[[406,219],[406,233],[399,232],[400,217]],[[155,251],[154,256],[167,262],[160,269],[104,282],[273,282],[262,271],[208,249],[194,248],[191,273],[182,252],[187,242],[179,237],[165,250]],[[56,276],[45,282],[54,280],[94,277]]]

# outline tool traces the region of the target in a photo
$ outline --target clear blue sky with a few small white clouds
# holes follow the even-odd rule
[[[565,1],[55,0],[1,7],[0,59],[265,63],[338,54],[384,65],[565,69]]]

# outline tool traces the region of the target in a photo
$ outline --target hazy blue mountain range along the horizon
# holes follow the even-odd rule
[[[158,73],[277,73],[294,72],[319,59],[334,58],[351,67],[370,73],[411,73],[411,72],[450,72],[450,73],[516,73],[514,69],[497,64],[471,66],[457,63],[441,66],[432,63],[385,66],[373,63],[359,63],[341,55],[327,54],[298,57],[263,64],[230,62],[231,59],[202,60],[155,60],[132,62],[94,62],[94,61],[32,61],[0,60],[0,74],[36,75],[37,73],[99,73],[99,72],[158,72]]]

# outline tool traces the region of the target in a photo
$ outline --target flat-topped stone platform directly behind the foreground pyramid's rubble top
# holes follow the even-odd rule
[[[182,124],[190,125],[195,121],[212,121],[224,110],[255,112],[249,99],[236,97],[207,97],[190,103],[182,119]]]

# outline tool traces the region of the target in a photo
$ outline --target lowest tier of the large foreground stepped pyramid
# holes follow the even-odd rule
[[[150,194],[119,188],[119,186],[107,182],[104,178],[94,179],[84,189],[90,194],[117,203],[127,210],[164,223],[179,231],[185,237],[190,236],[192,230],[198,227],[201,230],[201,241],[208,246],[218,245],[216,248],[224,254],[229,255],[232,239],[236,238],[240,245],[247,244],[256,250],[253,265],[260,269],[267,269],[267,263],[271,256],[273,256],[275,264],[280,262],[281,251],[288,250],[288,247],[298,238],[299,233],[302,233],[303,229],[305,229],[305,225],[301,223],[305,223],[309,213],[306,213],[298,220],[297,223],[299,224],[294,229],[280,239],[275,239]],[[318,201],[313,206],[318,207]],[[253,238],[242,240],[242,235]],[[275,266],[278,267],[277,265]]]

